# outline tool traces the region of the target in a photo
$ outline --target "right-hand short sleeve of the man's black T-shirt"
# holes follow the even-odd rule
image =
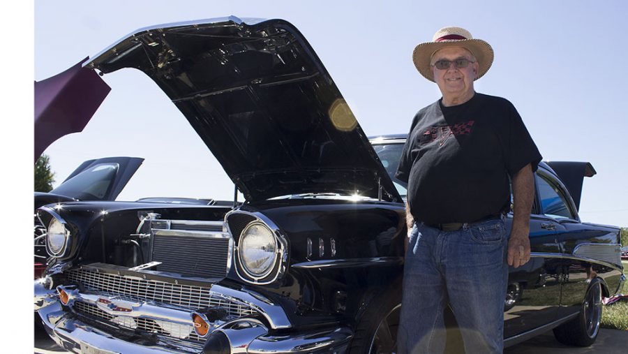
[[[509,124],[507,126],[508,131],[505,132],[508,139],[504,144],[504,157],[506,158],[506,169],[512,177],[528,163],[532,165],[532,172],[536,171],[542,157],[528,132],[528,128],[525,128],[519,112],[512,103],[508,102],[508,105]]]

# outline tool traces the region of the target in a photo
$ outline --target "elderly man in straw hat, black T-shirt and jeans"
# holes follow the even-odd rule
[[[409,231],[399,353],[442,353],[447,304],[467,353],[501,353],[507,265],[530,259],[541,155],[514,105],[473,89],[493,63],[491,45],[446,27],[413,59],[442,98],[414,117],[396,173],[408,182]]]

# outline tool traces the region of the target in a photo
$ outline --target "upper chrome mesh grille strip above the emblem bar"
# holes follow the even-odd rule
[[[69,270],[69,281],[80,284],[86,290],[123,295],[135,300],[153,300],[190,309],[222,307],[229,316],[242,317],[255,314],[246,304],[226,299],[209,287],[190,286],[165,281],[139,279],[130,276],[94,272],[92,270]]]

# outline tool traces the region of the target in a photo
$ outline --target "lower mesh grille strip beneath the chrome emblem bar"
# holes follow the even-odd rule
[[[184,339],[190,341],[202,341],[203,339],[198,336],[194,331],[194,327],[191,325],[182,325],[179,323],[172,323],[161,320],[152,320],[150,318],[132,318],[129,316],[113,316],[107,314],[105,311],[98,309],[94,304],[88,304],[87,302],[75,302],[74,309],[77,313],[84,316],[98,318],[100,320],[107,320],[112,323],[116,323],[121,327],[126,327],[130,330],[143,330],[151,334],[159,334],[175,339]]]

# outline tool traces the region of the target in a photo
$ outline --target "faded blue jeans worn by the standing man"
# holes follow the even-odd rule
[[[466,353],[502,353],[507,243],[503,219],[448,232],[414,226],[403,270],[398,353],[442,353],[448,303]]]

